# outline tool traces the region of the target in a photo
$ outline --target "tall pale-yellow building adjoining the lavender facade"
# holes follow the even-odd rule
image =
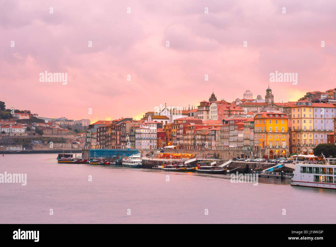
[[[314,113],[312,102],[301,100],[291,107],[291,152],[312,154],[314,137]],[[304,150],[303,150],[304,149]]]

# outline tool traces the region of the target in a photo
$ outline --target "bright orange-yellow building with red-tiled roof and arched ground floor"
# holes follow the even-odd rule
[[[285,113],[262,112],[254,117],[255,152],[259,158],[289,155],[288,117]]]

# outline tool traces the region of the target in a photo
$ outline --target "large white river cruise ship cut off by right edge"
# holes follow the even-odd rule
[[[326,160],[325,164],[295,164],[291,185],[336,189],[336,180],[334,178],[336,165],[330,164],[329,160],[332,158],[326,159],[324,157],[324,159]]]

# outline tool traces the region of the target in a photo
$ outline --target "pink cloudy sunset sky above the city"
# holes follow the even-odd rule
[[[212,89],[264,98],[276,70],[298,84],[270,83],[275,101],[297,100],[336,87],[336,2],[316,2],[5,1],[0,100],[43,117],[139,119],[160,104],[197,106]],[[67,85],[40,82],[44,71],[68,73]]]

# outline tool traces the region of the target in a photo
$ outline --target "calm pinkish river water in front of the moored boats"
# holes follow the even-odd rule
[[[229,175],[58,164],[56,156],[0,156],[0,173],[27,173],[26,186],[0,183],[0,223],[326,223],[335,218],[336,191],[293,187],[290,179],[259,178],[253,186],[231,183]]]

